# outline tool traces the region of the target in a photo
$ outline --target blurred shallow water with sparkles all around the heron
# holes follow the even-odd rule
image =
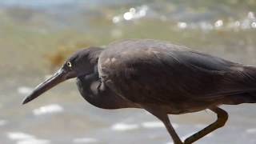
[[[162,39],[255,65],[255,8],[254,1],[0,1],[0,142],[171,143],[145,110],[98,109],[74,80],[26,106],[22,98],[71,51],[122,38]],[[222,107],[230,114],[226,126],[197,143],[255,143],[254,104]],[[186,138],[215,117],[202,111],[170,120]]]

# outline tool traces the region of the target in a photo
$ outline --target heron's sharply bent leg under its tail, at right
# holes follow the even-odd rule
[[[210,134],[210,132],[225,125],[226,120],[228,118],[228,114],[226,113],[226,111],[218,107],[210,108],[210,110],[212,110],[214,113],[217,114],[218,119],[214,123],[207,126],[206,128],[198,131],[198,133],[191,135],[189,138],[186,138],[184,144],[195,142],[199,138],[204,137],[206,134]]]

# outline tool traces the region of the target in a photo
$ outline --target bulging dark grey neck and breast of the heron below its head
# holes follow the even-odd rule
[[[77,79],[78,90],[90,104],[102,109],[130,107],[129,102],[115,94],[98,78],[98,72]]]

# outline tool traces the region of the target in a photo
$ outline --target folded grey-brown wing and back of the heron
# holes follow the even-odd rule
[[[102,81],[122,97],[177,109],[232,104],[230,95],[256,90],[254,67],[150,39],[110,44],[98,69]]]

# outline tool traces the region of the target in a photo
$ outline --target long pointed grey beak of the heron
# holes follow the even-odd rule
[[[65,81],[67,79],[67,74],[68,73],[65,70],[63,70],[63,68],[61,68],[50,78],[46,79],[45,82],[39,84],[29,96],[24,98],[22,104],[26,104],[27,102],[32,101],[34,98],[38,98],[39,95],[43,94],[47,90],[50,90],[52,87],[58,85],[58,83]]]

